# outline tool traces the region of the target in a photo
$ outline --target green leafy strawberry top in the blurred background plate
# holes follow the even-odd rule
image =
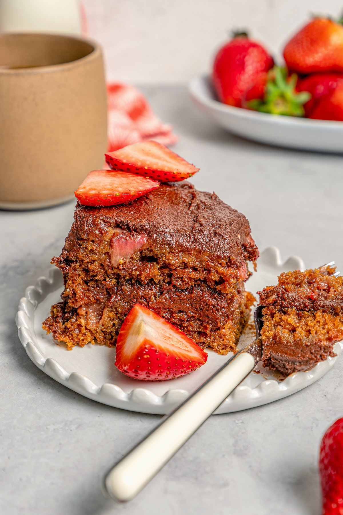
[[[307,91],[297,93],[297,80],[295,73],[288,77],[286,68],[274,66],[268,72],[263,100],[250,100],[246,107],[262,113],[304,116],[303,104],[310,100],[311,94]]]

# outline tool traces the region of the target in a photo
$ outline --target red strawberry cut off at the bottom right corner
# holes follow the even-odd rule
[[[320,444],[322,515],[343,515],[343,418],[329,427]]]

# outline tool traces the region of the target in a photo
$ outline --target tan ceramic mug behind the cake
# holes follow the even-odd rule
[[[64,202],[102,168],[107,104],[101,49],[85,39],[0,35],[0,208]]]

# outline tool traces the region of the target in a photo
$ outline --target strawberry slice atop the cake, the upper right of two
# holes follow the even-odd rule
[[[128,171],[159,182],[183,181],[199,170],[155,141],[128,145],[106,153],[105,158],[114,170]]]

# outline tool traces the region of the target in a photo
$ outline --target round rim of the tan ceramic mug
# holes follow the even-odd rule
[[[68,40],[80,41],[83,43],[87,43],[88,45],[93,47],[93,50],[89,52],[86,56],[80,57],[78,59],[74,59],[73,61],[67,61],[64,63],[56,63],[56,64],[45,64],[42,66],[34,66],[30,68],[2,68],[0,66],[0,75],[24,75],[24,74],[39,74],[42,72],[58,72],[64,70],[66,68],[74,67],[83,64],[86,61],[91,61],[97,58],[99,55],[102,55],[101,47],[99,43],[92,39],[79,37],[71,34],[61,34],[57,32],[6,32],[0,34],[0,40],[10,38],[10,37],[31,37],[38,36],[40,37],[48,37],[51,39],[63,38]]]

